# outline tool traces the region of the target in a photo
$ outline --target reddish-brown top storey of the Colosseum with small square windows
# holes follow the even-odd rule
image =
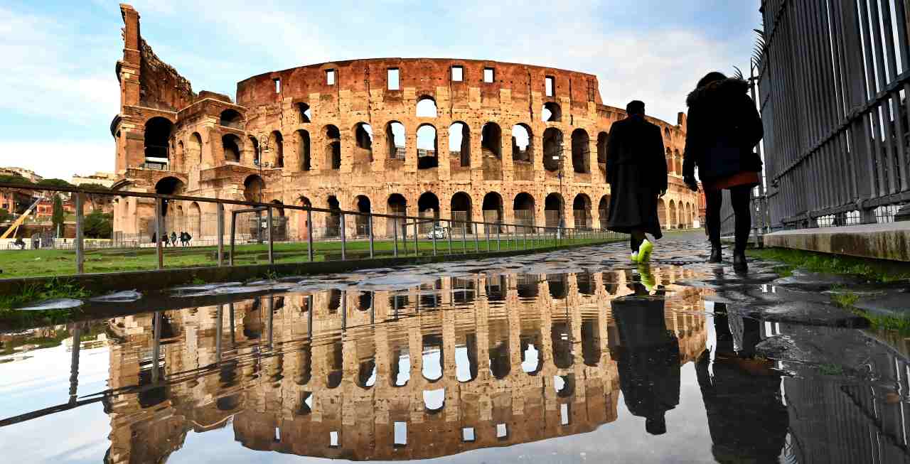
[[[452,81],[452,66],[463,68],[460,82]],[[494,82],[483,81],[484,68],[493,68]],[[399,70],[399,89],[389,90],[388,73]],[[335,70],[335,84],[329,85],[326,72]],[[554,94],[545,96],[545,77],[555,79]],[[276,92],[275,80],[280,80]],[[468,100],[470,89],[480,89],[480,99],[499,99],[501,90],[511,91],[513,100],[529,99],[539,93],[545,99],[568,97],[572,102],[601,104],[597,76],[543,66],[518,65],[497,61],[450,58],[375,58],[300,66],[261,74],[238,83],[238,105],[252,107],[281,98],[306,98],[309,94],[334,94],[340,91],[384,93],[400,97],[403,89],[413,88],[416,95],[433,96],[437,87],[449,87],[452,100]]]

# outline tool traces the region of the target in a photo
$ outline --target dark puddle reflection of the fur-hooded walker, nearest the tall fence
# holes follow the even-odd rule
[[[773,361],[754,358],[761,322],[726,314],[714,303],[717,343],[695,364],[702,388],[712,452],[718,462],[777,462],[788,428],[781,376]]]

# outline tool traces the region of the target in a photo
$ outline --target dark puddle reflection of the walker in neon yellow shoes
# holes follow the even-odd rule
[[[630,284],[634,295],[611,301],[620,333],[618,368],[626,408],[645,418],[652,435],[666,433],[666,411],[680,402],[680,347],[667,330],[661,298],[648,298],[641,284]],[[644,298],[642,298],[644,297]]]

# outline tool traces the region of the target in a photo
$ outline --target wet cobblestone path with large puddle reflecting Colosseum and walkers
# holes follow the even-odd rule
[[[0,447],[29,462],[910,462],[907,340],[831,298],[902,288],[706,258],[692,234],[658,242],[650,267],[611,244],[174,288],[155,311],[0,335]],[[209,296],[229,299],[192,306]],[[99,304],[155,304],[122,298]]]

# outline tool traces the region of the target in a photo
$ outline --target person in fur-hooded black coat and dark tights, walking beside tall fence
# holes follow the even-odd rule
[[[749,84],[713,72],[698,82],[686,99],[689,106],[682,177],[693,191],[698,190],[695,167],[702,180],[705,199],[705,227],[711,242],[709,262],[720,263],[722,191],[730,190],[736,215],[733,268],[747,269],[745,246],[752,228],[749,201],[753,187],[760,182],[762,160],[753,152],[762,139],[762,119],[752,98]]]

